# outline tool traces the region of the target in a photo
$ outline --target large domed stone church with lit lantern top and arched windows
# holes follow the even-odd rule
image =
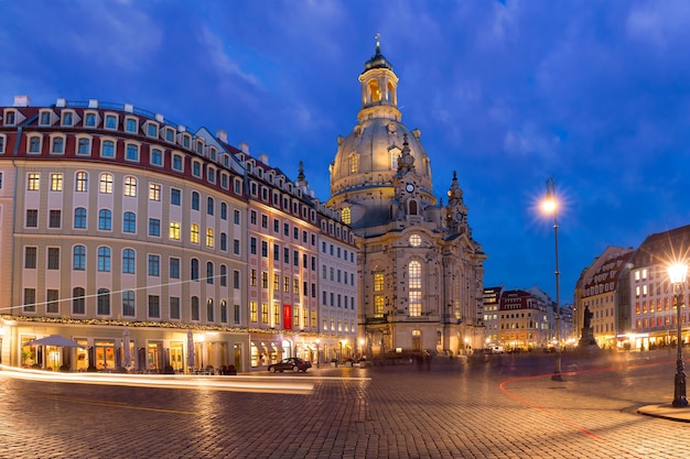
[[[421,131],[401,122],[398,76],[380,43],[359,75],[357,124],[338,136],[328,205],[357,234],[360,353],[463,354],[484,347],[482,247],[453,172],[432,192]]]

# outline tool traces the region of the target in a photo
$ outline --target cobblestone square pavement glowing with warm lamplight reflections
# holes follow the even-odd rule
[[[0,372],[0,458],[688,458],[690,425],[636,412],[670,402],[672,360],[565,353],[563,382],[548,354],[266,374],[305,395]]]

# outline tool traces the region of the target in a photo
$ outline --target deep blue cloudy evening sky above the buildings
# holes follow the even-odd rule
[[[690,2],[0,0],[0,105],[133,103],[230,143],[328,197],[338,134],[381,33],[434,192],[457,171],[485,285],[561,299],[608,245],[690,222]]]

